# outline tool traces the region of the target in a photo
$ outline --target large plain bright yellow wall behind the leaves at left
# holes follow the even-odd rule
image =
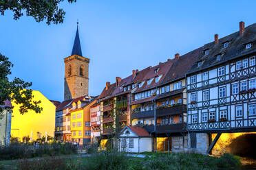
[[[19,141],[22,141],[24,136],[29,136],[32,141],[36,141],[46,133],[48,136],[54,137],[56,107],[38,90],[33,90],[32,95],[34,95],[33,100],[41,101],[40,106],[43,108],[41,113],[28,110],[22,115],[19,113],[19,105],[12,101],[14,108],[12,110],[11,136],[18,138]]]

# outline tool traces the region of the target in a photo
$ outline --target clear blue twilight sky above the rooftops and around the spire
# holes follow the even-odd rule
[[[90,58],[89,94],[105,82],[126,77],[175,53],[183,55],[256,22],[256,1],[85,1],[61,3],[60,25],[36,23],[30,16],[0,15],[0,53],[14,64],[12,76],[32,82],[48,99],[63,100],[64,62],[70,56],[79,21],[83,56]]]

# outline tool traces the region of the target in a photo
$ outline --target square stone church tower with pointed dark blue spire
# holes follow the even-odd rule
[[[76,38],[74,40],[71,56],[64,58],[64,62],[64,100],[88,95],[89,58],[85,58],[82,55],[78,34],[78,23],[76,29]]]

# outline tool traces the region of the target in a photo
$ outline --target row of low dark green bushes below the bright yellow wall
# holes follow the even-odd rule
[[[76,154],[76,147],[70,143],[41,144],[39,147],[33,145],[10,145],[0,147],[0,160],[13,160],[21,158],[34,158],[42,156],[58,156],[61,154]]]

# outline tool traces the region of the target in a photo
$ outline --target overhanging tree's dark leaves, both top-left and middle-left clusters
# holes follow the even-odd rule
[[[36,22],[46,20],[46,23],[58,24],[63,23],[65,12],[58,8],[58,4],[64,0],[0,0],[0,12],[4,15],[6,10],[14,12],[14,20],[20,19],[25,13],[26,16],[32,16]],[[76,2],[76,0],[67,0],[68,2]],[[0,106],[4,105],[4,101],[14,101],[20,104],[19,111],[21,114],[34,110],[40,113],[43,108],[39,106],[41,101],[34,101],[32,90],[26,88],[30,87],[32,83],[24,82],[15,77],[10,81],[8,75],[11,74],[10,68],[13,64],[8,61],[6,56],[0,53]],[[12,108],[5,108],[11,110]],[[0,119],[3,116],[3,108],[0,107]]]

